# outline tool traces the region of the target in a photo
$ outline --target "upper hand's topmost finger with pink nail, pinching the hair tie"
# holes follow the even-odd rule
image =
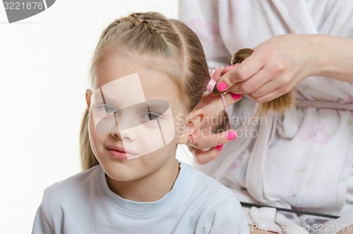
[[[224,91],[232,87],[234,83],[245,81],[256,74],[263,67],[263,62],[257,57],[250,57],[244,60],[236,69],[231,69],[217,81],[217,90]]]

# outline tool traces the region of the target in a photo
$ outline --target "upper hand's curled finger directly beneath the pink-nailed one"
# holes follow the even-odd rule
[[[266,83],[271,81],[272,74],[268,73],[268,69],[261,69],[255,75],[251,76],[246,81],[241,81],[234,84],[229,91],[232,93],[245,93],[253,95],[253,92],[264,86]]]

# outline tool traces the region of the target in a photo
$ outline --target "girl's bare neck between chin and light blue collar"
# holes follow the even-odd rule
[[[116,181],[107,176],[107,182],[115,194],[124,199],[139,202],[157,201],[172,190],[179,175],[179,163],[171,158],[155,172],[131,181]]]

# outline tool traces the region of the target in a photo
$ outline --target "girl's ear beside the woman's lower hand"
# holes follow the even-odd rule
[[[179,139],[179,144],[186,144],[189,141],[189,136],[194,131],[200,129],[203,126],[203,118],[205,117],[205,110],[198,109],[193,110],[186,117],[186,127],[183,136]]]

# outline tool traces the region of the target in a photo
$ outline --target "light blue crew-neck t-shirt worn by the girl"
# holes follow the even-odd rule
[[[45,189],[32,234],[249,233],[237,197],[185,163],[162,199],[122,199],[100,165]]]

